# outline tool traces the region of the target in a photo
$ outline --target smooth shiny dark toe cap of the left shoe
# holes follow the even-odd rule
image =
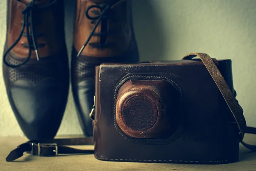
[[[67,103],[67,86],[60,87],[58,81],[47,78],[33,84],[23,79],[10,87],[9,102],[20,128],[31,140],[54,137],[58,131]]]

